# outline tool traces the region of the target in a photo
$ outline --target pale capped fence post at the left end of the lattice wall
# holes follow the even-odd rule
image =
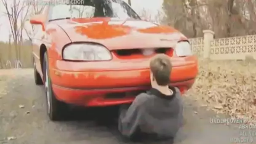
[[[203,30],[203,58],[210,58],[211,41],[213,40],[214,32],[211,30]]]

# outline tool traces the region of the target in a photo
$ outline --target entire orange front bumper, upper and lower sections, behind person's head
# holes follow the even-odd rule
[[[149,60],[71,62],[49,59],[49,64],[56,98],[70,104],[131,103],[136,95],[150,88]],[[197,76],[197,59],[179,58],[172,64],[171,85],[184,93]]]

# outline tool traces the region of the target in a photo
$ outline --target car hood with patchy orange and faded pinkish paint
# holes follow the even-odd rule
[[[61,20],[57,23],[72,42],[100,43],[109,50],[173,47],[187,37],[172,27],[149,21],[91,18]]]

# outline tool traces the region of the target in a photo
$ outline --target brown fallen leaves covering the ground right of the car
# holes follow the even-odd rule
[[[200,61],[188,94],[217,113],[256,119],[256,64],[246,61]]]

